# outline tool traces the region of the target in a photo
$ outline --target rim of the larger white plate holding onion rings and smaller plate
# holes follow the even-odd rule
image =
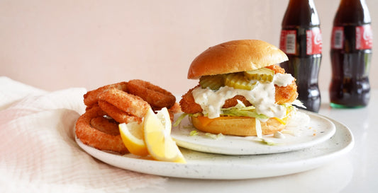
[[[311,158],[304,158],[300,160],[287,160],[286,162],[279,162],[279,170],[271,170],[270,168],[274,163],[262,163],[259,165],[253,164],[231,164],[225,165],[224,163],[217,163],[214,161],[206,161],[206,160],[187,160],[187,163],[169,163],[169,162],[162,162],[157,160],[144,160],[140,158],[133,158],[122,156],[116,153],[108,153],[106,151],[100,151],[96,148],[91,146],[87,146],[82,144],[82,141],[77,138],[75,135],[75,141],[77,144],[82,148],[85,152],[89,155],[97,158],[104,163],[109,165],[116,166],[117,168],[122,168],[125,170],[132,170],[135,172],[141,172],[150,175],[160,175],[165,177],[182,177],[182,178],[189,178],[189,179],[212,179],[212,180],[240,180],[240,179],[253,179],[253,178],[261,178],[261,177],[274,177],[280,175],[289,175],[296,172],[303,172],[306,170],[311,170],[314,168],[318,168],[319,166],[328,163],[330,160],[342,156],[345,153],[348,153],[354,146],[354,137],[352,136],[352,132],[350,129],[340,122],[335,121],[334,119],[330,119],[331,122],[335,123],[336,127],[336,134],[340,135],[345,134],[345,136],[349,136],[347,141],[343,141],[342,146],[336,149],[335,151],[325,153],[321,156],[313,156]],[[341,132],[341,133],[340,133]],[[329,141],[333,140],[335,137],[333,136],[328,141],[323,143],[328,143]],[[345,138],[344,136],[344,138]],[[322,144],[318,144],[316,146],[321,146]],[[314,147],[316,147],[314,146]],[[311,147],[311,148],[314,148]],[[311,155],[311,148],[305,148],[305,151],[310,151],[308,154]],[[191,151],[191,150],[189,150]],[[291,151],[289,153],[301,153],[301,151]],[[185,153],[184,157],[185,157]],[[212,154],[212,153],[204,153]],[[269,154],[269,155],[274,155]],[[285,154],[285,153],[278,153],[278,154]],[[218,156],[226,156],[231,158],[231,160],[240,159],[240,156],[227,156],[227,155],[218,155]],[[254,156],[265,156],[265,155],[254,155]],[[241,156],[245,157],[245,156]],[[275,163],[277,168],[277,163]],[[152,170],[152,169],[160,169],[160,170]],[[222,170],[220,170],[222,169]],[[174,170],[175,172],[172,172]],[[194,172],[194,170],[196,172]],[[224,172],[230,172],[225,173]],[[245,172],[245,171],[252,171],[252,172]],[[213,173],[211,173],[213,172]],[[221,173],[220,173],[221,172]],[[240,175],[243,174],[243,175]]]

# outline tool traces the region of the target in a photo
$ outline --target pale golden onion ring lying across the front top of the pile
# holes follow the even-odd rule
[[[114,107],[136,117],[143,118],[148,112],[150,105],[142,98],[111,88],[99,95],[99,101],[104,100]],[[101,107],[101,105],[100,105]],[[101,107],[102,108],[102,107]],[[102,108],[104,110],[104,108]],[[107,110],[105,112],[109,113]],[[111,116],[111,115],[110,115]],[[112,116],[111,116],[112,117]],[[113,117],[114,118],[114,117]]]

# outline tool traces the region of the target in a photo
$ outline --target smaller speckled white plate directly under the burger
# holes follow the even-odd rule
[[[263,139],[274,144],[272,146],[262,143],[256,136],[211,138],[204,132],[196,130],[190,124],[188,117],[185,117],[179,126],[172,128],[171,135],[178,146],[195,151],[226,155],[256,155],[308,148],[330,139],[335,134],[335,125],[326,117],[306,111],[299,111],[299,113],[310,117],[309,124],[286,129],[290,133],[285,133],[284,139],[274,138],[272,134],[263,136]],[[197,131],[198,134],[191,136],[191,131]]]

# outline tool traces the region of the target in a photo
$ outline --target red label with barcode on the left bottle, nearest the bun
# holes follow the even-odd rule
[[[296,54],[296,30],[282,30],[279,49],[286,54]]]

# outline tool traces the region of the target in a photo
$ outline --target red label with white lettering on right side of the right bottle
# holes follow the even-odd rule
[[[371,25],[356,26],[356,49],[372,49],[373,33]]]

